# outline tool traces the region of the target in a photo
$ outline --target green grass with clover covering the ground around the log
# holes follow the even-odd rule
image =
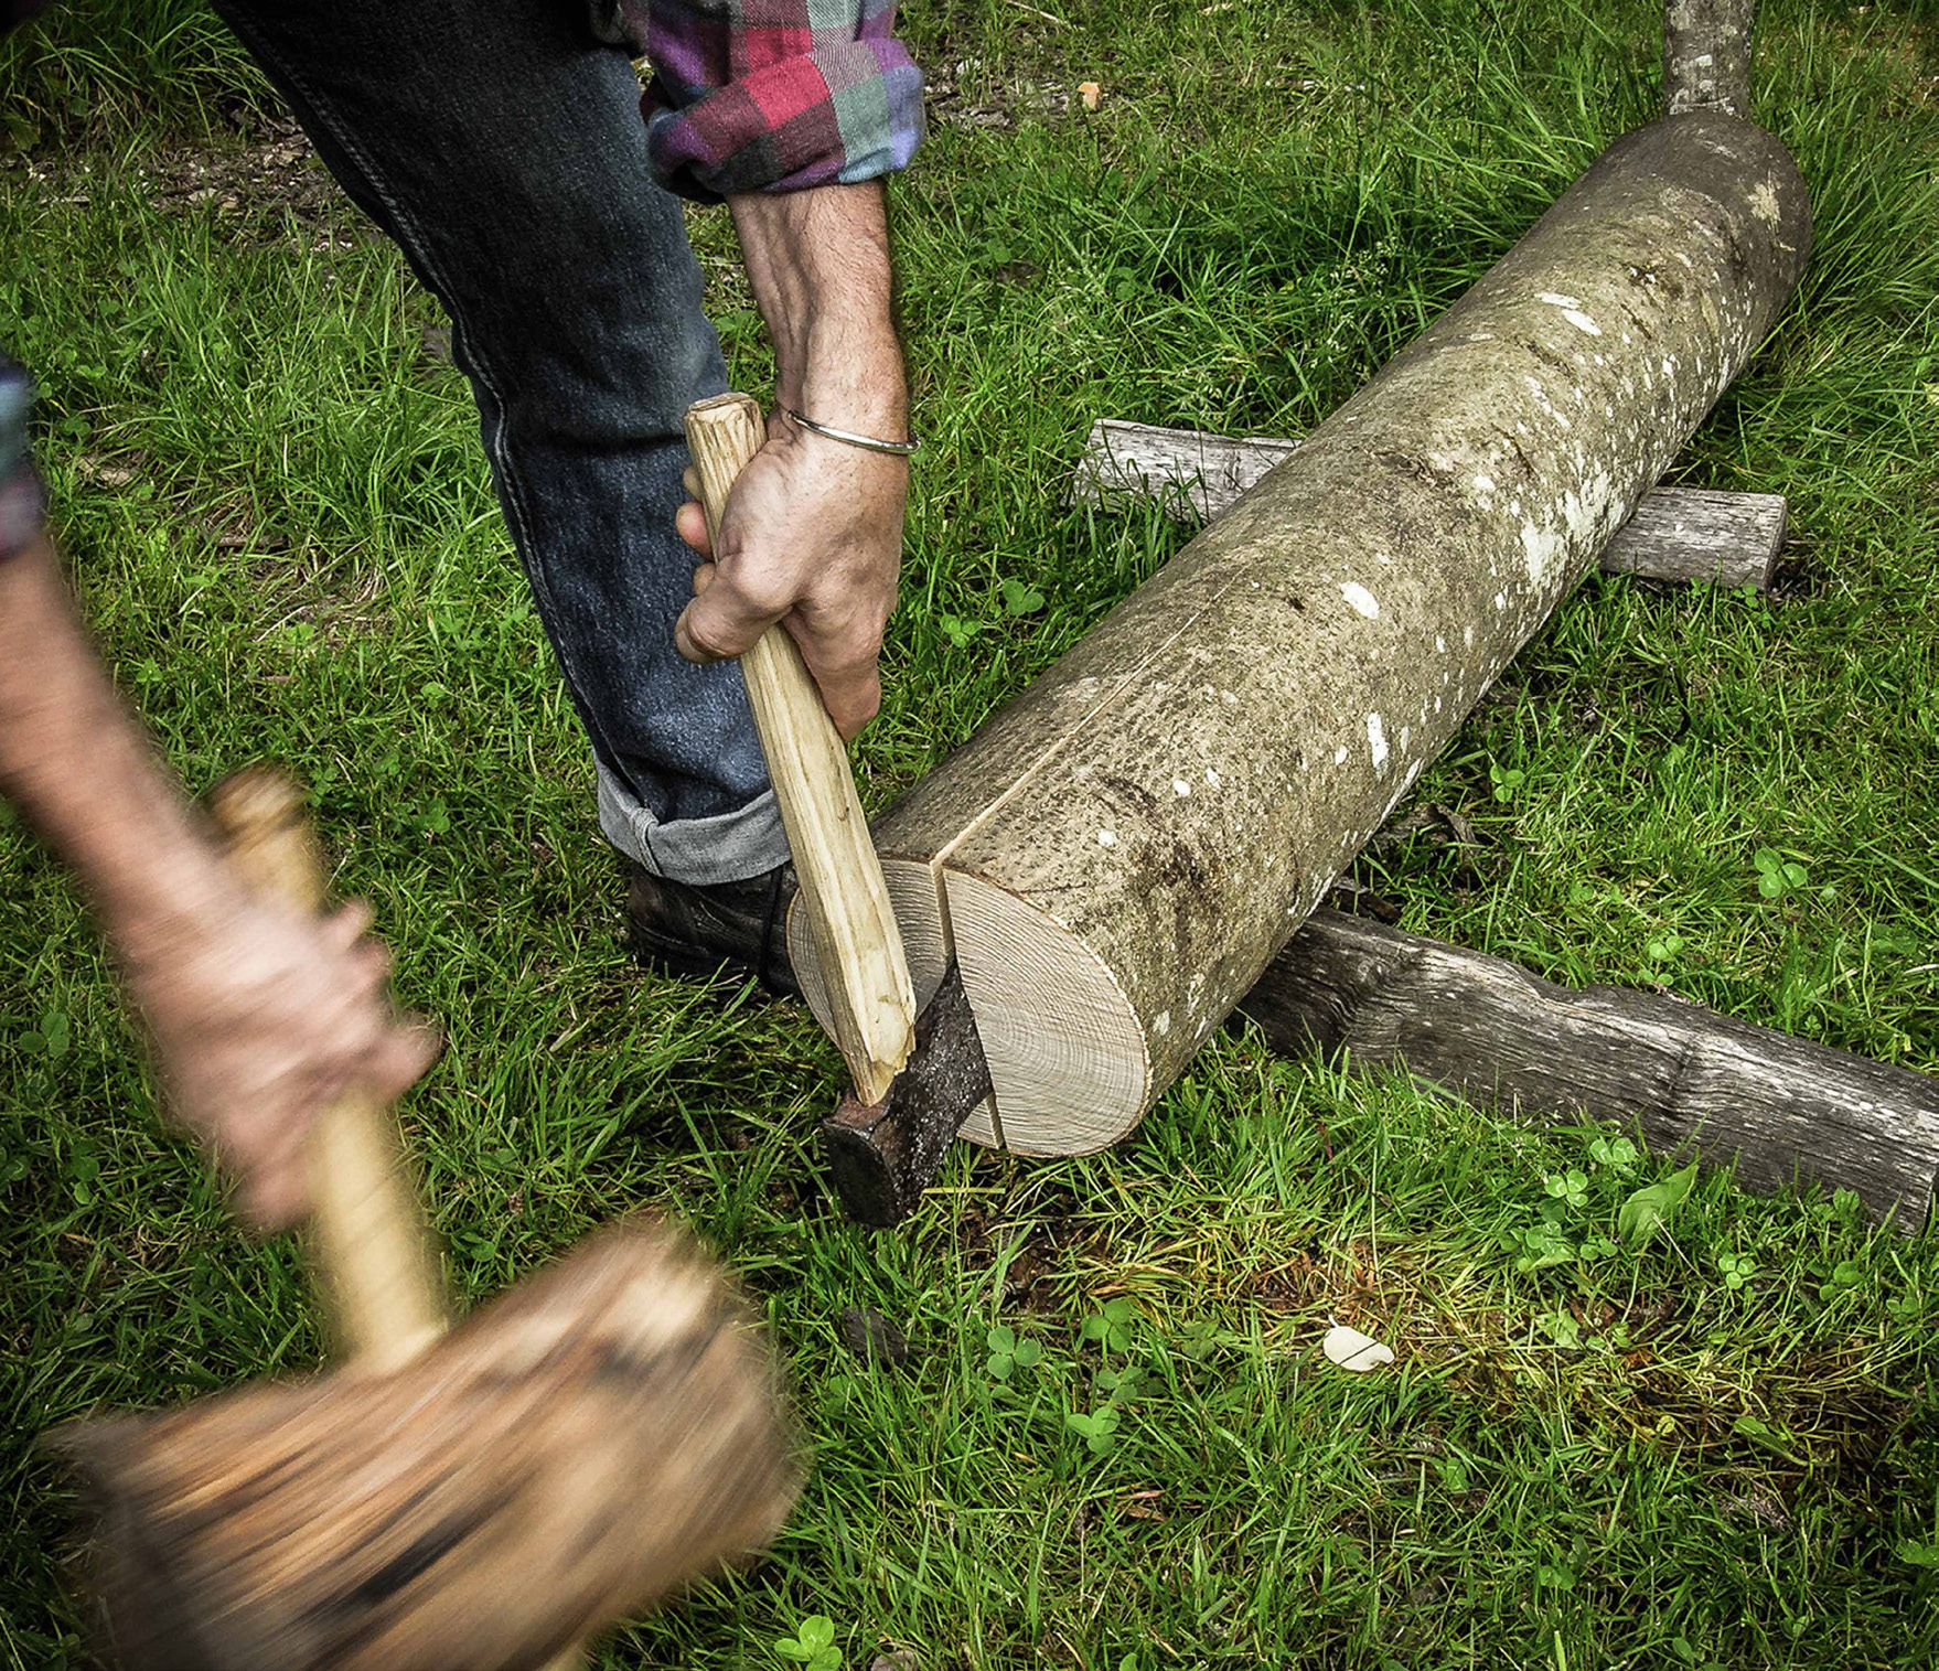
[[[1485,843],[1423,834],[1357,876],[1439,936],[1931,1072],[1939,37],[1910,16],[1761,23],[1819,246],[1677,475],[1790,496],[1776,595],[1592,580],[1417,791]],[[1179,545],[1059,508],[1092,419],[1311,428],[1656,97],[1629,0],[952,0],[907,27],[950,91],[896,188],[927,446],[873,804]],[[791,1359],[816,1469],[789,1531],[607,1665],[779,1665],[812,1615],[851,1665],[1931,1661],[1939,1243],[1850,1200],[1712,1171],[1648,1246],[1604,1246],[1671,1161],[1233,1033],[1111,1153],[964,1148],[906,1233],[845,1225],[811,1136],[840,1064],[805,1014],[619,950],[586,750],[396,254],[328,198],[142,182],[268,118],[190,6],[78,10],[4,50],[0,89],[33,147],[0,167],[0,341],[47,386],[87,613],[192,783],[271,754],[314,785],[337,886],[446,1022],[405,1119],[458,1285],[667,1204]],[[723,219],[694,236],[758,386]],[[1004,580],[1043,607],[1012,615]],[[1491,768],[1524,773],[1507,801]],[[1805,884],[1763,898],[1763,847]],[[85,1661],[76,1506],[31,1435],[322,1341],[291,1246],[242,1241],[159,1130],[66,884],[0,849],[0,1667],[39,1671]],[[1082,1326],[1111,1299],[1105,1363]],[[857,1361],[849,1305],[909,1361]],[[1334,1316],[1398,1365],[1332,1371]],[[989,1371],[999,1322],[1035,1367]],[[1101,1367],[1144,1378],[1094,1454],[1065,1417],[1107,1402]]]

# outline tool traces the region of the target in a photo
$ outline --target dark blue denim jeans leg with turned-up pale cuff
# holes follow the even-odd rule
[[[787,857],[733,663],[673,647],[681,415],[725,386],[640,89],[584,0],[217,0],[343,188],[452,316],[504,520],[599,775],[683,882]]]

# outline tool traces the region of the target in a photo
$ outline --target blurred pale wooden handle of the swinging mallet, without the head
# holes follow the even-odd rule
[[[322,909],[322,865],[295,783],[248,768],[217,783],[207,806],[252,888]],[[444,1334],[448,1316],[390,1109],[351,1089],[316,1117],[310,1196],[318,1279],[345,1349],[359,1369],[401,1367]]]

